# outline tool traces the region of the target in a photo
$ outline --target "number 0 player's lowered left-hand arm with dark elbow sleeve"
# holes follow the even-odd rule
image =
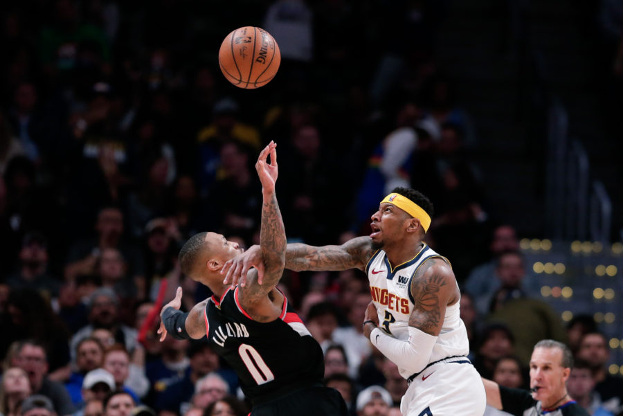
[[[160,311],[160,328],[158,334],[161,334],[160,341],[164,341],[167,334],[175,339],[200,339],[206,335],[206,323],[204,320],[204,311],[208,300],[197,303],[188,314],[184,314],[179,310],[181,306],[181,287],[177,288],[173,300],[164,305]]]

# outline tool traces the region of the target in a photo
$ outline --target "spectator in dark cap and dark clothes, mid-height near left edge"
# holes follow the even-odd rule
[[[17,271],[7,278],[11,289],[37,289],[45,298],[56,298],[60,282],[48,274],[48,244],[38,231],[24,236],[19,251]]]

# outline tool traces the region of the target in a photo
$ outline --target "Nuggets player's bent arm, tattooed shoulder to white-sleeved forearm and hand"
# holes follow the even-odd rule
[[[410,290],[415,306],[409,317],[408,340],[400,341],[379,329],[376,322],[370,322],[373,320],[370,307],[366,311],[363,334],[390,361],[415,374],[428,364],[441,332],[446,306],[455,296],[454,273],[446,262],[432,258],[419,267]]]

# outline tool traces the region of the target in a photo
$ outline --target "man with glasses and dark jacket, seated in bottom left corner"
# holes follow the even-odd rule
[[[37,341],[24,341],[17,355],[17,364],[28,374],[30,388],[36,395],[49,397],[57,415],[71,415],[75,408],[64,386],[48,379],[48,358],[46,350]],[[24,413],[24,408],[22,408]]]

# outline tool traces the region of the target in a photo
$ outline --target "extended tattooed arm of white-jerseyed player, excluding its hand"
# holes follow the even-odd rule
[[[300,243],[288,244],[285,267],[294,271],[347,269],[365,271],[365,265],[373,253],[370,237],[356,237],[341,246],[315,247]]]

